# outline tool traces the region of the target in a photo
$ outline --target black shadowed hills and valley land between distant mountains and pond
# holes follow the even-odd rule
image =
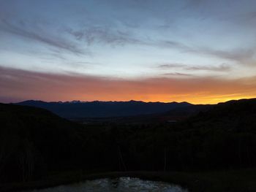
[[[177,123],[101,125],[0,104],[0,124],[1,191],[125,174],[191,191],[256,190],[256,99]]]

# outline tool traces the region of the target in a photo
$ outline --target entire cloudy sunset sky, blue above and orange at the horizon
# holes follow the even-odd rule
[[[253,97],[255,0],[0,0],[0,102]]]

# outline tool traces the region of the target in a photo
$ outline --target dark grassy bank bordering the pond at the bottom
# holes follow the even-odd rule
[[[256,169],[239,169],[218,172],[65,172],[52,174],[45,180],[0,185],[0,191],[21,191],[49,188],[56,185],[78,183],[83,180],[114,177],[139,177],[145,180],[161,180],[188,188],[190,192],[252,192],[256,191]]]

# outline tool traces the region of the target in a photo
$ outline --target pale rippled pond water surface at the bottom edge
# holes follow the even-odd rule
[[[88,180],[83,183],[61,185],[55,188],[34,190],[34,192],[188,192],[178,185],[169,183],[140,180],[133,177],[116,179]]]

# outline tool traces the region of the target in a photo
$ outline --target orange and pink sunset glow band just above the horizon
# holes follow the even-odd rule
[[[190,79],[151,78],[120,80],[43,74],[0,68],[1,101],[187,101],[217,104],[233,99],[256,97],[256,77],[218,80],[211,77]],[[5,99],[5,100],[4,100]]]

